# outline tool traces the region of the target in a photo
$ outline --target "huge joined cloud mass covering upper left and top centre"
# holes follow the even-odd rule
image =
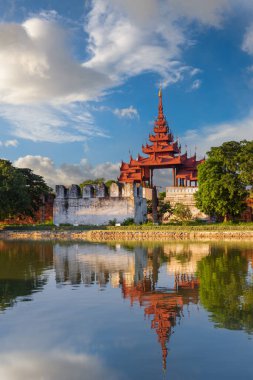
[[[7,104],[90,100],[129,76],[157,72],[170,81],[187,69],[182,17],[217,26],[227,0],[92,0],[85,19],[90,59],[78,62],[55,12],[0,24],[0,101]],[[53,16],[52,16],[53,15]]]

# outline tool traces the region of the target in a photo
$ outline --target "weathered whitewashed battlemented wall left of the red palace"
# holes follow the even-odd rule
[[[116,219],[122,223],[133,218],[135,223],[146,221],[147,204],[142,187],[113,183],[108,191],[104,184],[77,185],[69,189],[56,186],[54,224],[102,225]]]

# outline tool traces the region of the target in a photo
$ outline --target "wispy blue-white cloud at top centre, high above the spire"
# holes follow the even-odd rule
[[[187,23],[218,27],[229,9],[227,0],[93,0],[91,4],[85,25],[91,59],[84,66],[113,81],[152,71],[164,83],[192,71],[181,62],[183,48],[192,43]]]

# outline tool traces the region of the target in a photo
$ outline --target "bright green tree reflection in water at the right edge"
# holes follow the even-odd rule
[[[238,250],[212,252],[198,263],[200,300],[217,327],[253,331],[253,285]]]

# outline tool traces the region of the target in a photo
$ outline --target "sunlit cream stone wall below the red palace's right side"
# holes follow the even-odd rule
[[[176,203],[183,203],[188,206],[193,218],[208,219],[208,216],[201,212],[196,207],[196,202],[194,198],[194,193],[198,190],[198,187],[166,187],[166,198],[172,206],[175,206]]]

